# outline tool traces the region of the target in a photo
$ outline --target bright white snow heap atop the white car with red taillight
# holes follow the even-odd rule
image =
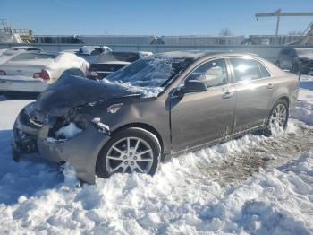
[[[57,70],[57,69],[70,69],[70,68],[87,68],[89,63],[76,55],[63,52],[59,56],[55,57],[55,60],[50,65],[47,65],[47,69]]]

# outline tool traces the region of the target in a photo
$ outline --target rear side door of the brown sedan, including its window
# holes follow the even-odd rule
[[[271,74],[250,57],[231,57],[229,61],[236,90],[234,133],[265,125],[275,86]]]

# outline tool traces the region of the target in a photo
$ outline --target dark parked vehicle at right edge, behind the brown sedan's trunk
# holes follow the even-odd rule
[[[292,73],[301,71],[306,74],[313,68],[313,48],[283,48],[275,63],[282,69]]]

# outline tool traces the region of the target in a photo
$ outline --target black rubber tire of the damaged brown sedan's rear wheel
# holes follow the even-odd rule
[[[280,108],[284,107],[284,110],[285,110],[284,119],[280,119],[281,121],[278,121],[279,126],[283,127],[283,130],[285,130],[287,128],[288,119],[289,119],[289,105],[288,105],[288,102],[286,100],[278,100],[275,102],[275,105],[273,106],[273,108],[272,108],[272,110],[271,110],[271,112],[267,118],[266,128],[264,130],[264,134],[266,136],[272,135],[271,129],[272,129],[272,125],[274,124],[273,118],[275,118],[275,113],[277,113],[277,109],[279,109],[279,107]],[[275,123],[275,124],[278,124],[278,123]]]

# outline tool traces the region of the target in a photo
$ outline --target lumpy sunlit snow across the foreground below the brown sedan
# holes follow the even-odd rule
[[[0,233],[313,232],[311,153],[279,170],[261,171],[237,187],[220,187],[199,171],[206,162],[224,161],[224,152],[259,144],[262,138],[248,135],[183,155],[162,165],[155,177],[116,174],[81,188],[66,165],[63,183],[32,196],[21,195],[16,204],[0,205]],[[51,170],[39,172],[35,182],[51,177]],[[2,192],[7,193],[8,179],[2,180]]]

